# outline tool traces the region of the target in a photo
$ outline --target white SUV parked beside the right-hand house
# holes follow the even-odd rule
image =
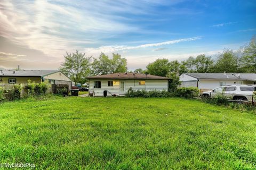
[[[211,91],[204,91],[202,98],[214,98],[218,95],[224,95],[230,100],[252,100],[254,91],[256,91],[256,85],[222,86]]]

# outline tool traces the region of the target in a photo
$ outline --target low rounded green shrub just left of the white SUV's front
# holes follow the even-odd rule
[[[174,95],[177,97],[194,98],[199,96],[199,90],[194,87],[181,87],[174,92]]]

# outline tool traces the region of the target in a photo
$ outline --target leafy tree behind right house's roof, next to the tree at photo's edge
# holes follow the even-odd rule
[[[219,56],[214,65],[214,72],[237,73],[239,70],[239,58],[232,50],[225,49]]]

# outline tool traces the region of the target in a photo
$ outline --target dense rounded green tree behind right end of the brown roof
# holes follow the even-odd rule
[[[166,77],[170,72],[170,63],[167,59],[157,59],[155,62],[147,65],[148,73]]]

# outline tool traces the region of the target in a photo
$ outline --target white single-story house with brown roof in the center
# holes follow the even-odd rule
[[[114,73],[88,77],[89,91],[94,96],[103,96],[107,90],[107,96],[123,96],[132,88],[133,90],[168,90],[169,78],[140,73]]]

